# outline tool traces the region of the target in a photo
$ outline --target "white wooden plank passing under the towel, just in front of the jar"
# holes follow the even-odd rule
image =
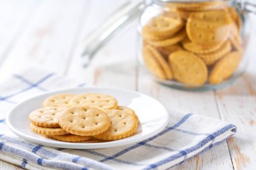
[[[148,71],[140,65],[138,91],[161,101],[168,110],[182,110],[185,113],[201,114],[220,118],[214,93],[212,91],[191,92],[171,89],[153,81]],[[226,142],[214,146],[182,165],[172,169],[233,169]]]

